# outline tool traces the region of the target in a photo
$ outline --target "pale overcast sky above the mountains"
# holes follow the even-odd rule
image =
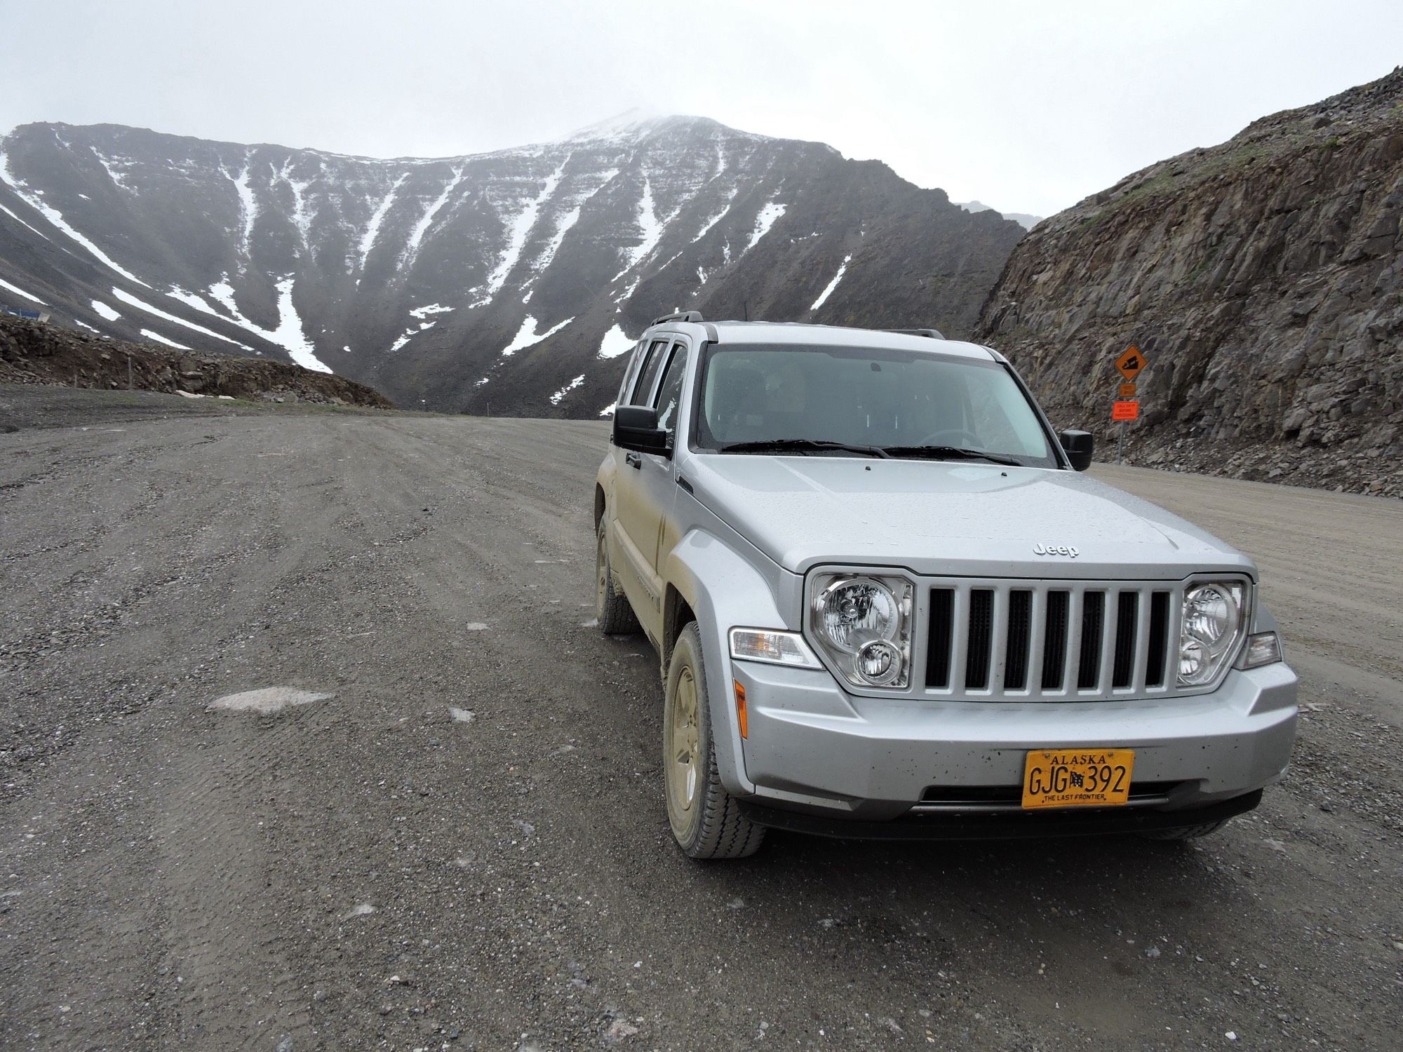
[[[0,0],[0,130],[446,156],[641,107],[1037,215],[1403,62],[1400,0]]]

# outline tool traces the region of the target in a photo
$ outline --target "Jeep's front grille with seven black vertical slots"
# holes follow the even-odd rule
[[[925,686],[1009,699],[1164,692],[1176,605],[1159,582],[941,582],[923,605]]]

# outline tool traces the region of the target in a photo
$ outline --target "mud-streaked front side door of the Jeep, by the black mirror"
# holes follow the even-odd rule
[[[650,360],[638,373],[638,383],[631,394],[634,405],[651,405],[659,410],[659,425],[676,426],[676,400],[686,373],[687,345],[680,338],[657,341],[662,346],[650,346]],[[659,407],[659,401],[668,405]],[[661,418],[669,412],[669,421]],[[624,558],[620,575],[629,602],[638,614],[643,627],[654,638],[661,638],[662,582],[658,575],[658,547],[664,520],[672,511],[675,484],[672,460],[661,453],[638,453],[617,450],[615,491],[619,523],[619,547]]]

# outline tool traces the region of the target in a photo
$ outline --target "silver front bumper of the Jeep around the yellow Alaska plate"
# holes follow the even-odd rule
[[[1212,694],[1079,703],[873,699],[849,694],[825,670],[732,662],[731,672],[745,687],[749,718],[742,755],[755,791],[744,795],[745,807],[765,825],[793,828],[770,814],[776,809],[780,818],[797,812],[955,829],[974,829],[969,819],[979,818],[995,829],[1047,835],[1079,823],[1104,829],[1075,832],[1193,825],[1215,821],[1218,809],[1254,807],[1258,790],[1285,773],[1295,741],[1296,676],[1284,663],[1233,669]],[[976,800],[981,790],[1006,800],[1021,784],[1030,749],[1093,746],[1134,749],[1132,798],[1136,785],[1149,784],[1167,787],[1163,800],[1037,815],[996,815],[976,802],[964,814],[958,807],[943,807],[939,816],[912,811],[922,800]]]

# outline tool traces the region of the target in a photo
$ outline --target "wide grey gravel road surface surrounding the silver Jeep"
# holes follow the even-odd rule
[[[602,424],[88,394],[0,390],[4,1048],[1403,1045],[1397,502],[1094,470],[1254,554],[1302,673],[1218,837],[697,865],[591,626]],[[327,697],[208,708],[276,686]]]

